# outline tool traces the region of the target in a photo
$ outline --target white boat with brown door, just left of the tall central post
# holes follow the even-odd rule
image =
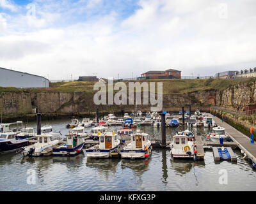
[[[131,142],[125,145],[120,151],[123,159],[145,159],[152,151],[150,140],[147,133],[141,133],[137,129],[136,133],[131,135]]]

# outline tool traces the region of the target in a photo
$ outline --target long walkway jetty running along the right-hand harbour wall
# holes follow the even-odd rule
[[[237,129],[233,128],[227,122],[222,122],[218,117],[211,115],[215,122],[225,128],[230,138],[237,143],[237,146],[245,152],[249,159],[252,159],[253,163],[256,163],[256,143],[250,143],[250,138]]]

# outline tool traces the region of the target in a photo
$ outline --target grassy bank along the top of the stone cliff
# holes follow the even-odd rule
[[[130,82],[163,82],[163,94],[186,94],[196,91],[222,91],[239,83],[251,83],[252,79],[163,79],[163,80],[139,80]],[[129,82],[124,82],[127,87]],[[15,87],[0,87],[1,92],[96,92],[93,91],[95,82],[56,82],[50,83],[50,87],[37,89],[18,89]],[[157,87],[156,87],[157,88]],[[107,85],[108,91],[108,85]]]

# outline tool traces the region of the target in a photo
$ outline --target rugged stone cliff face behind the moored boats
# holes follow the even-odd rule
[[[143,96],[141,96],[143,98]],[[163,107],[210,106],[216,105],[231,110],[242,111],[245,105],[256,103],[256,82],[233,85],[223,91],[195,91],[188,94],[164,94]],[[0,112],[4,115],[33,113],[37,108],[41,113],[93,112],[93,93],[80,92],[2,92],[0,93]],[[118,105],[100,105],[100,110],[120,110]],[[150,107],[148,105],[138,108]],[[134,110],[134,105],[122,105]]]

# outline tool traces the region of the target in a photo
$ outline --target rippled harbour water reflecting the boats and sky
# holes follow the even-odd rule
[[[70,120],[48,122],[63,136],[68,133],[65,125]],[[28,126],[36,130],[36,122]],[[151,140],[161,139],[159,128],[144,126],[141,130]],[[166,128],[166,140],[175,131]],[[211,129],[194,131],[200,131],[207,140]],[[254,191],[256,171],[242,159],[239,149],[234,152],[236,163],[214,163],[211,150],[205,152],[204,161],[175,162],[170,159],[169,149],[153,149],[147,160],[89,159],[85,153],[76,157],[22,157],[14,152],[0,155],[0,191]],[[221,184],[223,172],[227,172],[227,184]],[[35,183],[31,184],[33,173]]]

